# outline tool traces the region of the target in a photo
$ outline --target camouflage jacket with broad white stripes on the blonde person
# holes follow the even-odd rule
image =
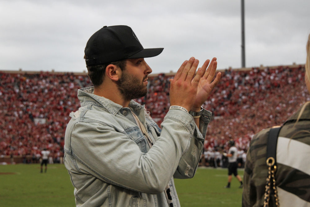
[[[275,176],[281,207],[310,206],[310,103],[294,126],[300,110],[283,124],[277,141]],[[269,129],[260,131],[251,140],[244,170],[243,207],[263,206]],[[273,195],[269,206],[276,206]]]

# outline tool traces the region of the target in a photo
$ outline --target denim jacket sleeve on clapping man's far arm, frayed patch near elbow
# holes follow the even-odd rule
[[[210,123],[212,113],[207,110],[203,110],[200,118],[200,130],[195,124],[195,131],[193,136],[190,137],[190,145],[187,151],[182,155],[177,170],[173,177],[179,179],[193,178],[198,167],[198,163],[201,157],[206,131],[208,124]]]

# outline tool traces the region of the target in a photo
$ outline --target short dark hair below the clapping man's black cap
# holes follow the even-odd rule
[[[86,59],[86,56],[84,56],[84,59]],[[91,79],[91,82],[93,83],[94,87],[100,86],[103,83],[105,69],[110,64],[116,65],[117,67],[121,68],[121,70],[124,70],[126,68],[126,60],[105,63],[102,65],[93,65],[93,66],[86,65],[88,71],[88,77]]]

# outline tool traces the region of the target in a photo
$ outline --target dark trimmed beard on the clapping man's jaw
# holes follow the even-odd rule
[[[147,76],[145,77],[145,79]],[[121,92],[124,100],[131,100],[134,98],[140,98],[146,95],[148,92],[147,87],[144,85],[143,81],[138,78],[129,75],[123,70],[123,74],[120,79],[116,81],[117,88]]]

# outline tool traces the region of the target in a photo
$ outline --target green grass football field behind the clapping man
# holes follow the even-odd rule
[[[243,175],[242,170],[238,170]],[[194,178],[175,179],[182,207],[241,206],[242,189],[233,178],[226,189],[227,169],[199,168]],[[40,173],[39,164],[0,165],[0,206],[75,206],[73,186],[63,164],[49,164]]]

